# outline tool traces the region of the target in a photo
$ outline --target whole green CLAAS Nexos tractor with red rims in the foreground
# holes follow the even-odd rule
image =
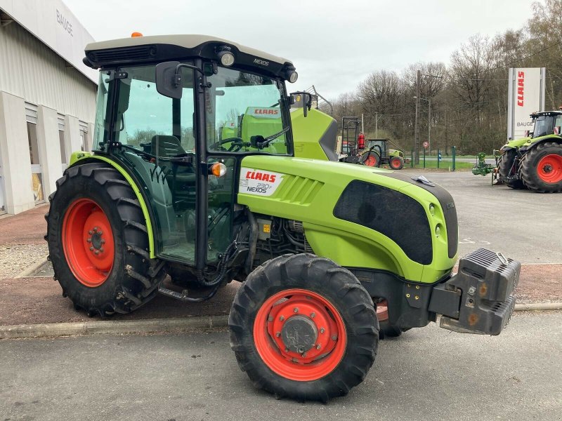
[[[478,249],[452,274],[445,189],[295,156],[289,60],[171,35],[89,44],[84,62],[100,70],[93,152],[72,155],[46,215],[55,279],[77,309],[123,314],[157,293],[200,302],[242,282],[228,321],[240,368],[276,396],[320,401],[365,379],[379,306],[403,330],[438,314],[457,332],[506,326],[521,265]],[[224,131],[248,109],[261,132]]]

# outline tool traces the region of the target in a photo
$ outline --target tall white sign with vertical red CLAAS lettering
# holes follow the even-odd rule
[[[507,138],[520,139],[532,131],[532,112],[544,111],[544,67],[509,69]]]

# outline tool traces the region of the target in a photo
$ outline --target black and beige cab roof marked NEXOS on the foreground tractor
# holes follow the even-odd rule
[[[203,58],[218,61],[218,53],[230,51],[233,67],[287,79],[292,62],[233,41],[208,35],[134,36],[88,44],[84,64],[93,69]]]

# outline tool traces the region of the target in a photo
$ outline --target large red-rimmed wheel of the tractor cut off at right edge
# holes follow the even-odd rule
[[[562,145],[543,142],[530,149],[521,160],[521,178],[533,192],[562,192]]]

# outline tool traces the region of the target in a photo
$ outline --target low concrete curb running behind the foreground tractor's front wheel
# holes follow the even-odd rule
[[[562,302],[516,304],[516,312],[562,310]],[[174,317],[131,321],[85,321],[0,326],[0,339],[55,338],[72,335],[131,335],[142,333],[190,332],[228,327],[228,316]]]

